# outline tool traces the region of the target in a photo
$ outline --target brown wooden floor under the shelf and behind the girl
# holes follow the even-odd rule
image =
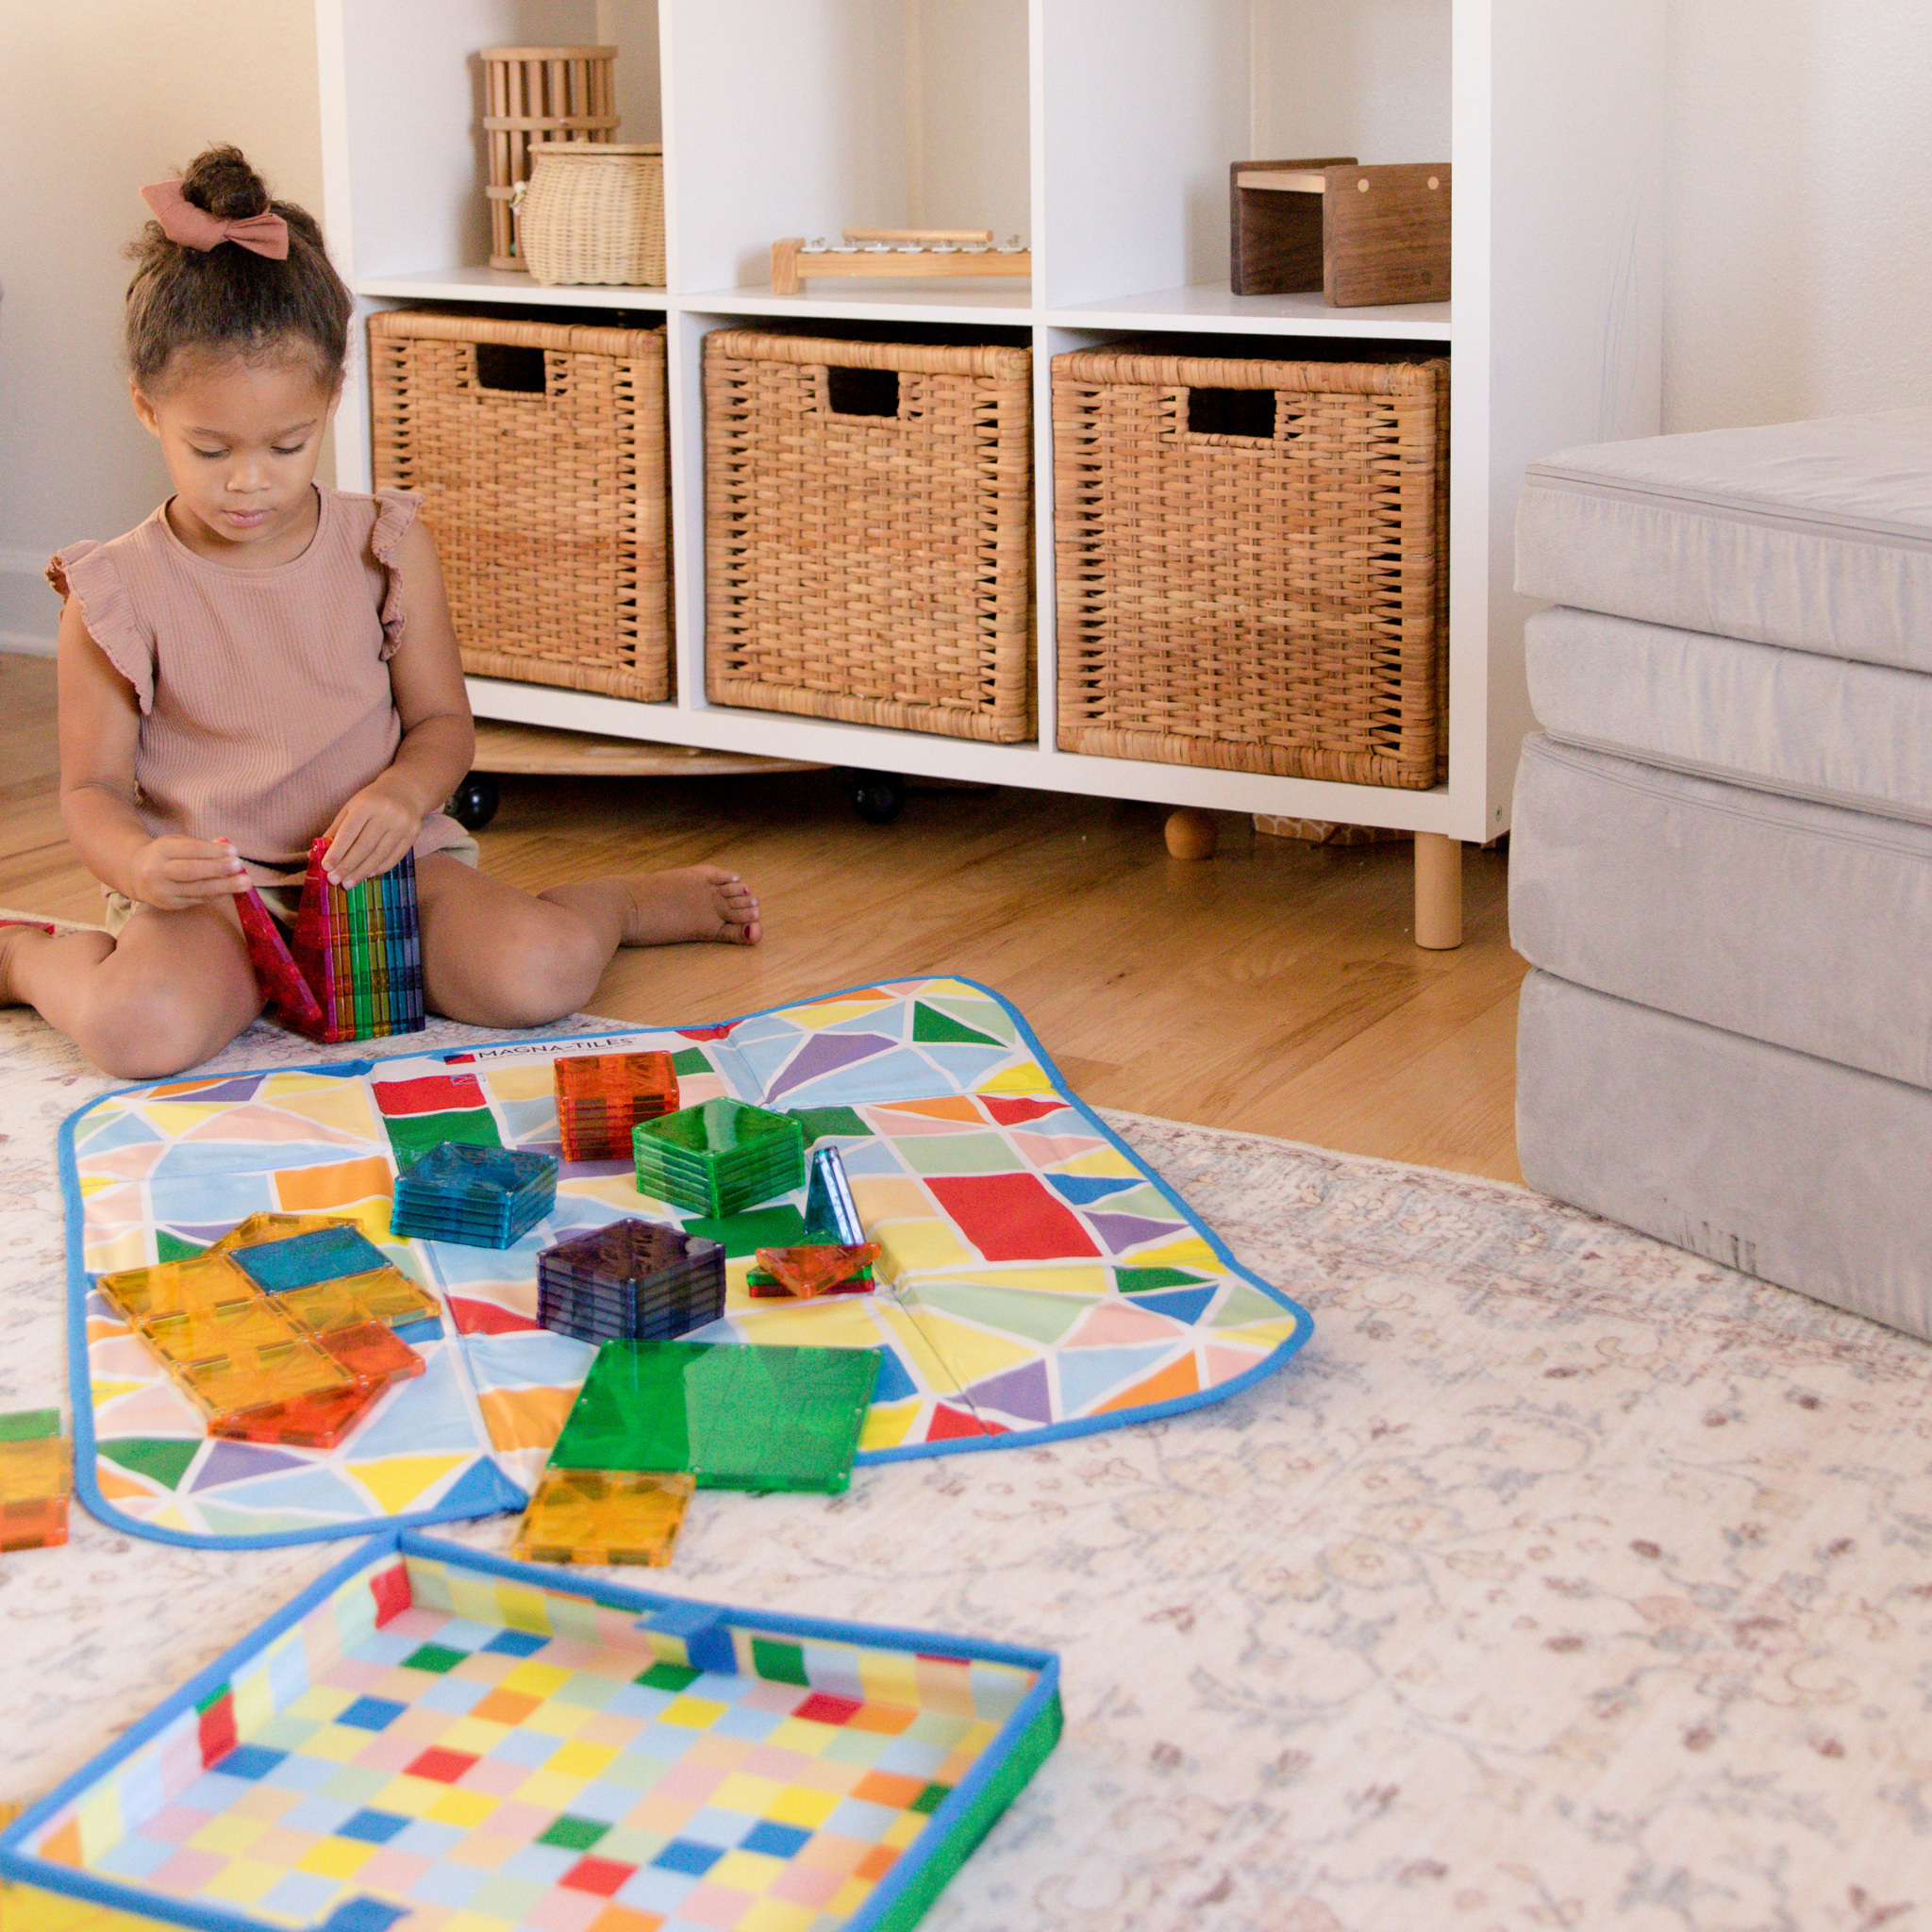
[[[502,779],[483,862],[526,889],[726,862],[765,943],[620,952],[595,1010],[697,1024],[908,974],[1007,995],[1103,1107],[1520,1179],[1505,860],[1464,856],[1466,941],[1408,937],[1406,844],[1310,848],[1221,815],[1171,860],[1157,806],[914,788],[866,825],[835,773]],[[54,678],[0,655],[0,904],[97,918],[56,804]]]

